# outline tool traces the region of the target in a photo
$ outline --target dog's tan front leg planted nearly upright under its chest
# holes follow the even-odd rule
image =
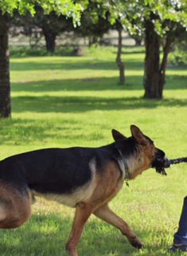
[[[66,250],[68,250],[70,256],[78,256],[76,247],[80,242],[84,225],[90,215],[92,215],[92,211],[93,208],[86,203],[78,203],[76,205],[76,215],[72,224],[72,231],[66,244]]]

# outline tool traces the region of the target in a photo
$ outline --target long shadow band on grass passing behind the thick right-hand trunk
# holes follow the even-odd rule
[[[37,78],[36,78],[37,79]],[[185,76],[166,77],[166,89],[186,89]],[[88,77],[77,79],[53,79],[49,81],[31,81],[12,83],[13,92],[47,93],[58,91],[104,91],[104,90],[143,90],[142,76],[127,76],[126,85],[119,85],[119,77]]]

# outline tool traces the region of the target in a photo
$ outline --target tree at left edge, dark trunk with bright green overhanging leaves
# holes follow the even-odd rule
[[[43,1],[19,1],[19,0],[2,0],[0,2],[0,116],[11,116],[10,100],[10,55],[8,34],[10,28],[10,15],[18,10],[20,14],[29,11],[35,14],[35,3],[38,2],[45,14],[55,11],[56,14],[72,16],[74,22],[80,21],[81,5],[74,4],[72,0],[43,0]]]

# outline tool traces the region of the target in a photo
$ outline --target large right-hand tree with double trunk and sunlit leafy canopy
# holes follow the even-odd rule
[[[111,14],[111,22],[120,19],[131,34],[144,33],[144,97],[162,99],[169,52],[187,29],[186,0],[103,0],[102,4]]]

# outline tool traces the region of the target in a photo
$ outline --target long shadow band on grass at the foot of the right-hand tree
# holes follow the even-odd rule
[[[145,100],[138,97],[14,96],[14,112],[88,112],[138,108],[183,107],[186,100]]]

